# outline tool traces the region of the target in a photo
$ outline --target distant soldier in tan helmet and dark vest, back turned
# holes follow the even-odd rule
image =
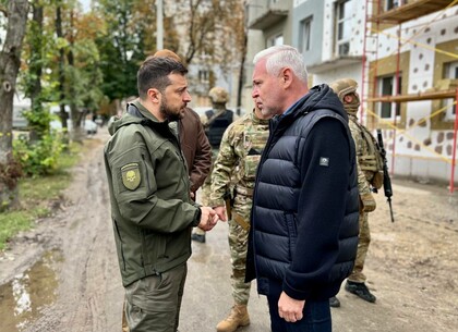
[[[234,114],[231,110],[226,109],[226,103],[229,100],[229,94],[226,89],[215,86],[208,91],[208,97],[212,101],[212,110],[206,111],[205,114],[201,116],[201,121],[212,146],[212,164],[214,164],[216,156],[218,155],[222,134],[234,120]],[[208,202],[209,195],[210,176],[207,176],[202,185],[201,202],[204,206]],[[205,231],[195,228],[191,238],[200,243],[205,243]]]

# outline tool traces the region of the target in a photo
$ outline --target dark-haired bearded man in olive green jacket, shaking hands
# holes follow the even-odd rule
[[[218,217],[190,198],[179,140],[169,127],[191,101],[186,69],[167,58],[146,60],[140,98],[109,127],[105,165],[111,218],[131,332],[174,332],[191,256],[191,229],[212,230]]]

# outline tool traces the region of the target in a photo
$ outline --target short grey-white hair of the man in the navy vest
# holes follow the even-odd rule
[[[256,65],[264,58],[267,58],[266,71],[270,75],[277,76],[284,67],[289,67],[299,79],[308,83],[309,74],[302,56],[292,46],[277,45],[262,50],[254,56],[253,64]]]

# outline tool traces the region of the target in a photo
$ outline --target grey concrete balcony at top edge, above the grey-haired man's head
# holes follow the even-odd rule
[[[251,29],[264,30],[288,17],[290,0],[253,0],[248,3]]]

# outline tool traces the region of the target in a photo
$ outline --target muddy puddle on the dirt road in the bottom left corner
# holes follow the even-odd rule
[[[53,304],[58,288],[55,263],[62,259],[61,251],[47,251],[31,269],[0,286],[0,331],[24,331]]]

